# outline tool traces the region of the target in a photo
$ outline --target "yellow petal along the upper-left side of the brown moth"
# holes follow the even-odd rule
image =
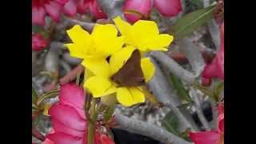
[[[131,54],[135,48],[133,46],[126,46],[118,52],[114,53],[110,57],[110,71],[111,75],[115,74],[122,68],[122,66],[126,63],[126,61],[130,58]]]

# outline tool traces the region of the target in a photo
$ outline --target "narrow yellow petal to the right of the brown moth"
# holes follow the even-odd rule
[[[145,81],[149,82],[154,77],[154,64],[150,61],[150,58],[142,58],[141,66]]]

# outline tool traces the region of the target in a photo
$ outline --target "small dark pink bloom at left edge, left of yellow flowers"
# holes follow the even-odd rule
[[[33,51],[41,51],[43,50],[49,43],[49,40],[42,38],[41,34],[33,34],[32,35],[32,50]]]

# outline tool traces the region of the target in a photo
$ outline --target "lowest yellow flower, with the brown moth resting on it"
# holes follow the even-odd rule
[[[86,89],[90,90],[94,98],[100,98],[116,92],[117,100],[123,106],[132,106],[139,102],[145,102],[145,95],[140,86],[118,86],[111,80],[111,77],[125,65],[127,60],[133,54],[135,48],[126,46],[110,57],[110,62],[101,70],[103,74],[96,74],[88,78],[85,82]],[[148,82],[154,76],[154,65],[150,62],[150,58],[141,58],[141,68],[145,81]],[[108,71],[108,72],[106,72]]]

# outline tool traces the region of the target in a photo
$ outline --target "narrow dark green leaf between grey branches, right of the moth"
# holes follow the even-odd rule
[[[174,74],[170,74],[170,82],[173,84],[174,90],[177,90],[178,96],[186,100],[186,102],[192,103],[188,91],[185,89],[185,86],[179,78],[175,77]]]

